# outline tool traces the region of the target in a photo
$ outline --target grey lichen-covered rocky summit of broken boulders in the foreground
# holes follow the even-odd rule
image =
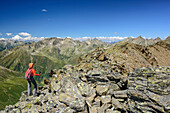
[[[90,58],[88,58],[90,57]],[[170,67],[137,68],[128,73],[98,48],[79,64],[52,71],[39,93],[6,106],[12,113],[168,113]]]

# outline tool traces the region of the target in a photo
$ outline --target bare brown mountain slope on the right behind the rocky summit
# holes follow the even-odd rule
[[[106,50],[112,60],[123,63],[129,71],[139,67],[169,66],[170,45],[166,41],[159,41],[147,47],[121,43]]]

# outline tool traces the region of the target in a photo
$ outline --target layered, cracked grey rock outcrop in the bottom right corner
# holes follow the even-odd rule
[[[170,112],[170,67],[135,69],[128,78],[129,111]]]

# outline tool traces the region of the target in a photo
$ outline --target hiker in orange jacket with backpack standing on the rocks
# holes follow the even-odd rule
[[[29,63],[29,68],[25,73],[25,79],[27,80],[27,84],[28,84],[28,96],[31,95],[31,82],[34,84],[34,95],[37,94],[37,83],[34,80],[33,74],[34,76],[40,76],[40,74],[36,74],[35,73],[35,69],[33,69],[34,64],[33,63]]]

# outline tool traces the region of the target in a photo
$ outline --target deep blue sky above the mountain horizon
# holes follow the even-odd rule
[[[11,34],[6,34],[11,33]],[[0,0],[0,38],[167,37],[170,0]]]

